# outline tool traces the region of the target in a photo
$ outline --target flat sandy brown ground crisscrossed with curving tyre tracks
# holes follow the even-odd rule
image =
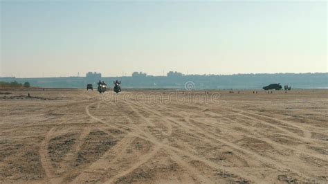
[[[0,183],[328,183],[327,90],[0,91]]]

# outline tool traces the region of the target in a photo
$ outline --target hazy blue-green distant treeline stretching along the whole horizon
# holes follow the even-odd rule
[[[292,89],[328,88],[328,73],[262,73],[235,75],[184,75],[170,71],[166,76],[147,75],[134,72],[132,76],[100,77],[47,77],[47,78],[0,78],[6,82],[30,82],[39,87],[86,88],[86,84],[93,84],[104,80],[109,87],[113,87],[113,80],[122,81],[122,89],[184,89],[185,83],[194,82],[195,89],[262,89],[272,83],[289,85]]]

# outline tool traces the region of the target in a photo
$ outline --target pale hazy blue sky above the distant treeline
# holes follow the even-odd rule
[[[0,1],[0,76],[327,72],[325,1]]]

